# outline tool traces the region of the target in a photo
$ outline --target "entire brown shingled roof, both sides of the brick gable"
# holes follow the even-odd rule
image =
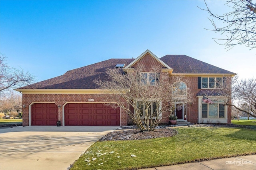
[[[74,70],[69,70],[62,76],[37,82],[22,89],[97,89],[93,81],[96,78],[106,77],[106,68],[115,68],[116,64],[130,64],[135,59],[109,59]],[[193,59],[186,55],[166,55],[160,58],[164,63],[173,68],[173,73],[184,74],[235,74],[208,63]],[[20,90],[19,90],[20,89]]]

